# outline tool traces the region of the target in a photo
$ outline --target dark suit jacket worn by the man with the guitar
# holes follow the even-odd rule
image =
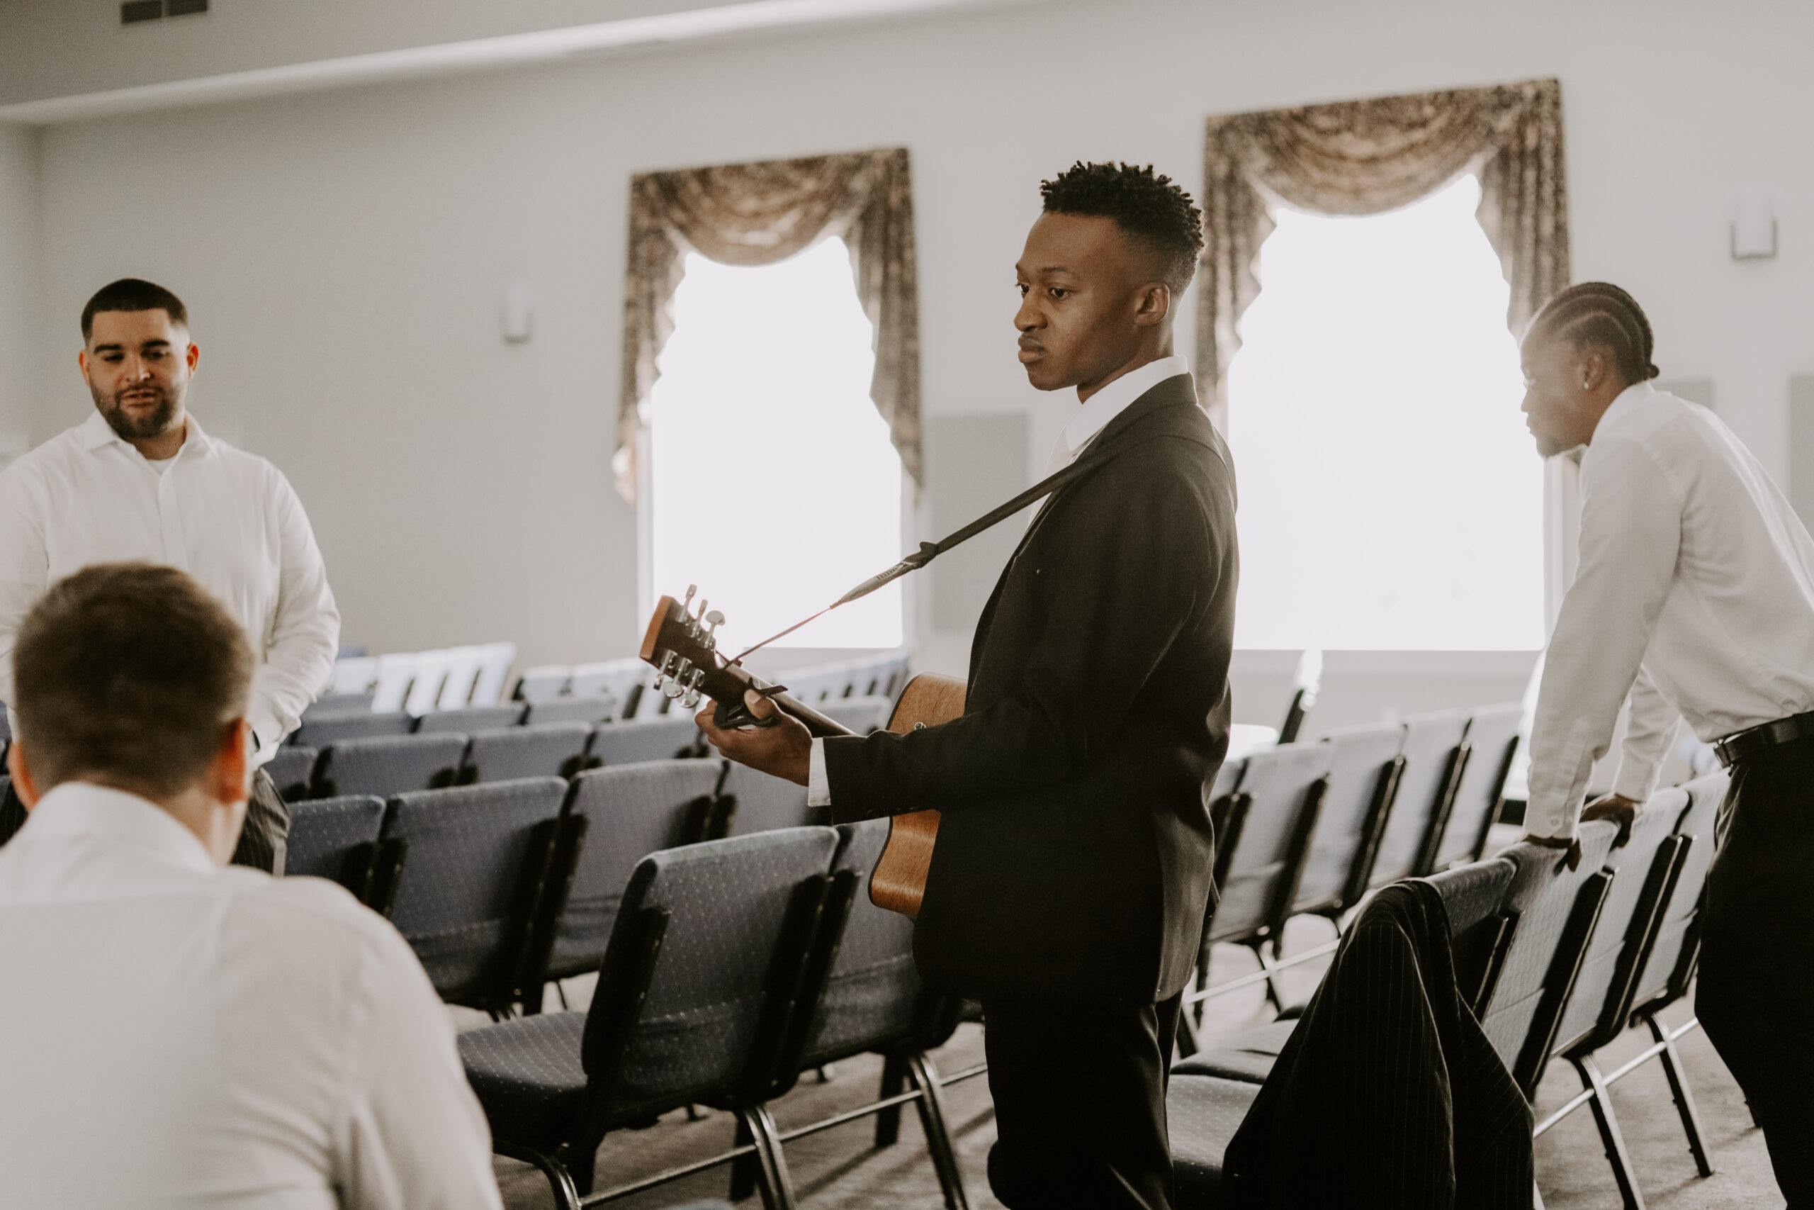
[[[1228,749],[1235,481],[1188,376],[1090,450],[983,610],[961,718],[825,740],[840,822],[936,807],[922,978],[970,998],[1150,1003],[1190,976]]]

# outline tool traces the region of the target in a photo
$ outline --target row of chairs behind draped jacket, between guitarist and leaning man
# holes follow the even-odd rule
[[[1208,998],[1250,981],[1264,981],[1284,1007],[1273,976],[1288,965],[1279,956],[1288,918],[1317,914],[1339,931],[1368,891],[1477,860],[1498,818],[1522,715],[1517,702],[1417,715],[1224,764],[1210,807],[1221,898],[1186,996],[1195,1021]],[[1217,943],[1252,949],[1261,974],[1210,985]],[[1188,1021],[1185,1032],[1194,1047]]]

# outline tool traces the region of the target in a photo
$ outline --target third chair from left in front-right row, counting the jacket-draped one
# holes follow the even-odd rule
[[[1689,842],[1673,834],[1687,805],[1689,796],[1682,789],[1653,795],[1633,822],[1627,844],[1607,856],[1613,887],[1587,942],[1573,992],[1556,1018],[1553,1039],[1536,1050],[1531,1087],[1526,1088],[1527,1098],[1535,1094],[1551,1056],[1569,1059],[1582,1079],[1582,1092],[1540,1121],[1536,1134],[1546,1134],[1576,1108],[1589,1105],[1627,1210],[1643,1210],[1643,1195],[1595,1052],[1625,1032],[1636,980],[1649,961],[1663,907],[1687,858]]]

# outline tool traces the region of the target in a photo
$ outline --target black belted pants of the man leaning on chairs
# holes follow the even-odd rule
[[[1814,740],[1741,760],[1720,805],[1694,1014],[1814,1210]]]

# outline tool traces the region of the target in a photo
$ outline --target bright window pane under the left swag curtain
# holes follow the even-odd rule
[[[871,325],[851,254],[686,258],[649,403],[655,591],[698,584],[736,649],[902,555],[902,461],[869,399]],[[891,584],[776,646],[894,648]]]

